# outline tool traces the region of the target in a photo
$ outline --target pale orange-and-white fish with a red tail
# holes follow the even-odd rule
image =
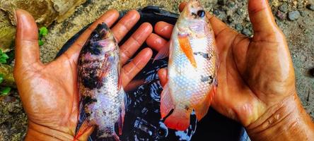
[[[168,83],[161,93],[161,117],[168,128],[186,130],[193,110],[198,121],[207,114],[217,87],[214,32],[199,1],[191,0],[185,6],[169,46],[155,58],[169,54]]]

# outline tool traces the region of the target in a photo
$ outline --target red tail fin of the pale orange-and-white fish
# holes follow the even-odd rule
[[[190,125],[191,111],[175,109],[168,118],[165,118],[165,125],[175,130],[187,130]]]

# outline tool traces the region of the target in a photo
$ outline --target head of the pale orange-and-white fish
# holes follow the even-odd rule
[[[190,0],[178,19],[178,28],[181,35],[206,35],[209,24],[202,4],[197,0]]]

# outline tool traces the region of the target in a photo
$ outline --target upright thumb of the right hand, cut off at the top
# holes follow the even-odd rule
[[[278,31],[267,0],[250,0],[248,12],[253,30],[258,37],[268,37]]]

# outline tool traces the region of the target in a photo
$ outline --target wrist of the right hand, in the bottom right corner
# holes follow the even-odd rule
[[[314,125],[296,94],[286,97],[246,127],[252,140],[310,140]]]

